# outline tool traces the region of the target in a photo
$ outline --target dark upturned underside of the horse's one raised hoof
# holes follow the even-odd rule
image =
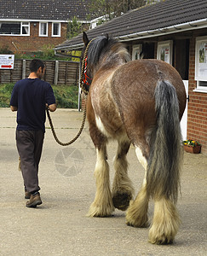
[[[116,193],[112,196],[112,203],[118,210],[125,211],[129,207],[132,195],[127,193]]]

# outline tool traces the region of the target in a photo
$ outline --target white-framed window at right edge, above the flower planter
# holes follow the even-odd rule
[[[200,53],[201,49],[204,51],[203,56]],[[203,59],[201,62],[200,58]],[[197,81],[197,88],[194,91],[207,93],[207,36],[196,38],[195,80]]]

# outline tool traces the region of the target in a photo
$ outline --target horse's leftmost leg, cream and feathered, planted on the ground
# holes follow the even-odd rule
[[[96,193],[95,201],[89,207],[88,215],[90,217],[106,217],[112,215],[114,211],[110,189],[109,166],[106,159],[106,143],[104,143],[100,149],[97,149],[95,165]]]

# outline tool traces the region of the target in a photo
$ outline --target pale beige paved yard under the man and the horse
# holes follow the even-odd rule
[[[77,133],[82,113],[58,109],[52,118],[60,140],[66,142]],[[15,113],[0,108],[0,120],[0,255],[207,255],[206,155],[185,154],[178,201],[181,229],[173,245],[156,246],[147,242],[147,229],[125,224],[124,212],[117,210],[111,218],[85,217],[95,197],[95,150],[87,125],[81,138],[66,148],[55,143],[47,129],[39,171],[43,205],[26,208],[17,170]],[[115,150],[112,143],[110,165]],[[133,147],[129,175],[137,191],[143,169]]]

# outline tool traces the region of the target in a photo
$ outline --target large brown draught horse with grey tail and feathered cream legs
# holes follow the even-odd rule
[[[89,40],[83,32],[83,43],[83,52],[87,50],[83,84],[90,84],[87,119],[97,156],[95,200],[88,216],[111,216],[118,208],[126,211],[126,224],[148,227],[147,209],[152,198],[149,241],[170,244],[181,223],[175,206],[182,159],[180,120],[187,101],[181,76],[164,61],[131,61],[124,44],[114,38]],[[110,140],[118,142],[112,189],[106,153]],[[145,169],[135,199],[126,159],[131,144]]]

